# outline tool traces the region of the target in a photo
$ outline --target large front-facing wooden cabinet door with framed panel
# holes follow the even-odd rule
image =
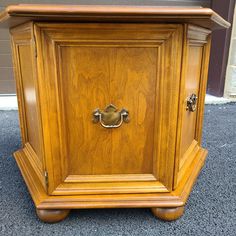
[[[39,23],[36,37],[49,193],[170,191],[182,26]],[[97,108],[129,122],[105,128]]]

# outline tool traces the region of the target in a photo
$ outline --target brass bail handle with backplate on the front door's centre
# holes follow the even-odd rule
[[[118,128],[123,122],[129,122],[129,112],[124,108],[118,111],[114,105],[110,104],[104,111],[96,109],[93,112],[93,122],[100,122],[104,128]]]

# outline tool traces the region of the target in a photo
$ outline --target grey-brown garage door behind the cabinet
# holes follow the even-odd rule
[[[210,7],[211,0],[1,0],[0,10],[5,6],[19,3],[61,3],[84,5],[154,5],[154,6],[203,6]],[[0,29],[0,95],[14,94],[15,82],[13,79],[11,49],[8,30]]]

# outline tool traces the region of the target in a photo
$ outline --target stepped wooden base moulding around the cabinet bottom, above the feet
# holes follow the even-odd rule
[[[37,209],[179,207],[185,205],[204,164],[207,151],[200,149],[178,188],[171,193],[49,196],[22,150],[14,153]]]

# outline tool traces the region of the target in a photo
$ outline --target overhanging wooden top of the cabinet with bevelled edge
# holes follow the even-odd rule
[[[230,23],[212,9],[202,7],[19,4],[8,6],[0,13],[0,27],[13,27],[31,20],[191,23],[208,29],[230,27]]]

